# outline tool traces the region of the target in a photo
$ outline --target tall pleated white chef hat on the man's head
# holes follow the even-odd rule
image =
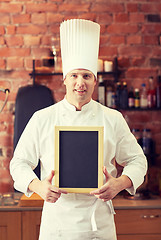
[[[97,78],[100,25],[71,19],[60,26],[63,77],[74,69],[87,69]]]

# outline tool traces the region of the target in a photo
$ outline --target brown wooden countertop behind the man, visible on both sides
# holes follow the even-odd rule
[[[27,200],[22,194],[19,198],[25,199],[25,204],[19,200],[17,204],[12,206],[0,206],[0,211],[41,211],[43,201],[36,195],[32,196],[30,200]],[[123,196],[117,196],[113,200],[115,210],[127,210],[127,209],[161,209],[161,198],[158,196],[152,197],[148,200],[130,200],[125,199]]]

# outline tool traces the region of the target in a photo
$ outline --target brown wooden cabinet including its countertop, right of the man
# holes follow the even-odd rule
[[[116,198],[115,223],[118,240],[160,240],[161,200]]]

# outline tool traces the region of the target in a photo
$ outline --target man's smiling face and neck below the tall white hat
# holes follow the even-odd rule
[[[76,69],[69,72],[64,80],[66,86],[66,99],[77,110],[90,102],[96,79],[92,72],[85,69]]]

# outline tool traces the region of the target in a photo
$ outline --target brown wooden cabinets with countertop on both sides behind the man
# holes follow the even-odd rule
[[[38,240],[42,202],[40,206],[1,206],[0,240]],[[25,202],[26,204],[26,202]],[[128,200],[121,196],[113,200],[118,240],[160,240],[161,198]]]

